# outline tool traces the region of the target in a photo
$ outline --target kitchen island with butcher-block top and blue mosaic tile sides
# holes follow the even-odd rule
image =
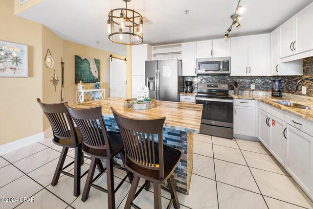
[[[79,104],[71,104],[73,108],[88,108],[102,106],[102,115],[107,129],[119,131],[110,107],[118,113],[139,119],[154,119],[166,117],[163,126],[163,144],[179,149],[181,159],[174,171],[174,181],[177,191],[188,194],[193,164],[193,134],[200,132],[202,105],[194,103],[179,103],[157,101],[155,108],[146,110],[131,110],[123,107],[125,98],[109,97]],[[122,164],[120,159],[115,163]]]

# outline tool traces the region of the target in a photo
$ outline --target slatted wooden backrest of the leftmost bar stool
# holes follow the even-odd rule
[[[37,98],[37,102],[50,122],[54,137],[72,139],[73,142],[79,143],[73,121],[70,119],[64,103],[45,104],[39,98]]]

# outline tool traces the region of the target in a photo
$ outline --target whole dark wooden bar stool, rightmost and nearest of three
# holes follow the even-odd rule
[[[125,168],[134,174],[124,209],[130,209],[131,206],[136,209],[139,208],[133,202],[145,186],[141,186],[136,193],[140,178],[145,179],[146,183],[148,181],[153,183],[155,209],[162,207],[161,184],[166,181],[169,189],[165,190],[171,193],[171,200],[167,208],[170,208],[174,203],[174,208],[179,209],[179,200],[172,173],[179,163],[181,152],[163,145],[165,117],[141,120],[122,116],[112,107],[111,110],[125,146]]]

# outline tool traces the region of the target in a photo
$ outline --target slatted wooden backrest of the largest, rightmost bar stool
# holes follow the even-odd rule
[[[112,107],[111,110],[121,132],[126,161],[159,170],[159,177],[164,178],[163,125],[166,118],[134,119],[120,115]]]

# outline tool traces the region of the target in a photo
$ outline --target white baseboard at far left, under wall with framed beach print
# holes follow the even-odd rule
[[[35,143],[43,139],[45,139],[44,132],[29,136],[29,137],[25,137],[23,139],[19,139],[16,141],[12,141],[6,144],[2,144],[0,145],[0,155],[3,155],[8,152],[12,152],[13,150],[22,148],[24,146],[30,145],[32,143]]]

